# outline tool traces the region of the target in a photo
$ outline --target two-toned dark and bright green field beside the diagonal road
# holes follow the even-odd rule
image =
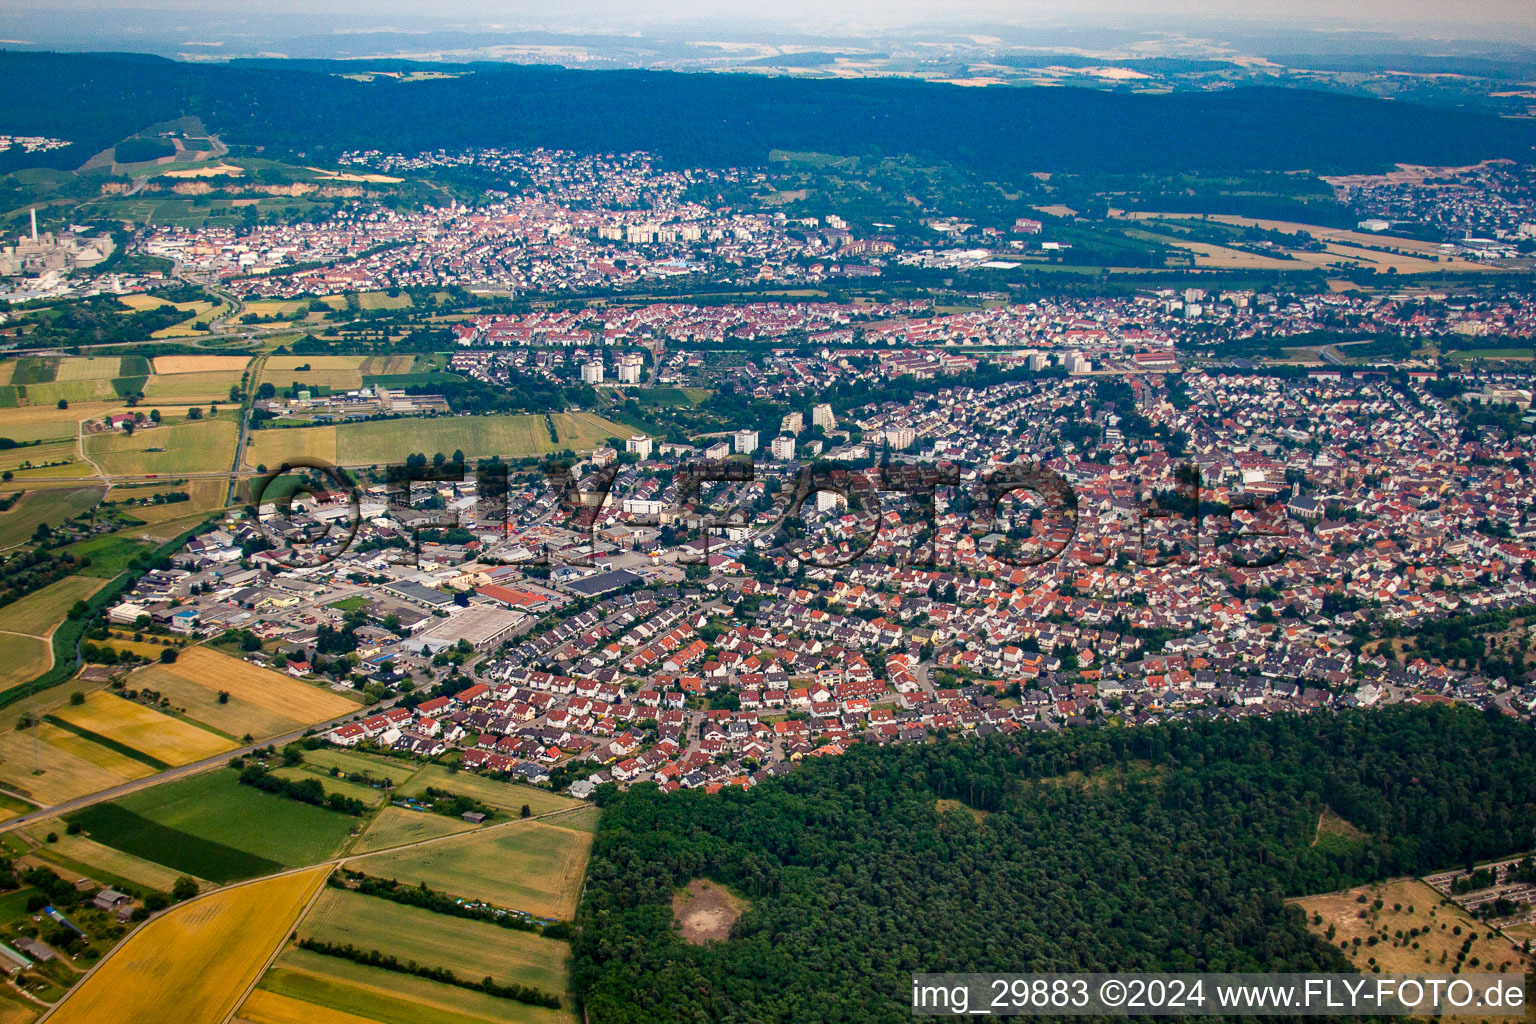
[[[97,843],[210,881],[330,857],[359,818],[241,786],[215,769],[66,815]]]

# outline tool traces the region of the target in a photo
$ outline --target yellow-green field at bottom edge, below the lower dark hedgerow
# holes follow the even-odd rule
[[[573,1024],[578,1018],[568,1010],[498,999],[482,992],[459,989],[425,978],[353,964],[335,956],[323,956],[301,949],[283,950],[272,970],[263,976],[252,998],[273,993],[283,998],[278,1006],[293,1013],[293,1003],[306,1007],[343,1010],[353,1018],[376,1024]],[[264,1006],[257,1001],[257,1006]],[[241,1016],[255,1024],[289,1024],[289,1018],[263,1018],[250,1015],[250,1003],[241,1009]],[[306,1024],[327,1024],[329,1018],[316,1013],[303,1018]],[[346,1024],[352,1024],[343,1018]]]

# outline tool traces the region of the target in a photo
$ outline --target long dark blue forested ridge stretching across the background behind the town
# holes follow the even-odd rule
[[[788,149],[914,154],[1012,177],[1465,164],[1528,158],[1536,143],[1531,123],[1298,89],[1129,95],[488,63],[455,64],[470,74],[433,81],[338,77],[375,66],[404,64],[0,52],[0,132],[74,141],[29,158],[54,167],[77,167],[147,124],[195,114],[226,143],[309,160],[344,149],[547,146],[740,166]]]

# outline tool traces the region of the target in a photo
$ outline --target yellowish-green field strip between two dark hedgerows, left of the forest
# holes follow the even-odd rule
[[[498,927],[485,921],[433,913],[378,897],[327,889],[298,929],[303,938],[352,943],[399,960],[447,967],[461,978],[490,975],[554,995],[565,992],[565,943]]]

